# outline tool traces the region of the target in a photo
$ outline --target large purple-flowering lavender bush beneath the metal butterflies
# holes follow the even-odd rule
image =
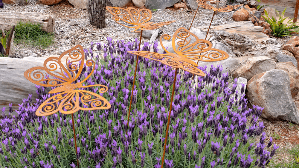
[[[100,43],[85,50],[86,57],[97,62],[86,85],[108,86],[102,95],[111,109],[74,113],[75,149],[70,115],[35,115],[37,107],[51,96],[44,87],[36,86],[36,101],[29,95],[16,110],[18,115],[11,115],[11,104],[9,115],[2,114],[0,167],[76,167],[76,159],[79,167],[161,167],[175,70],[157,61],[139,59],[133,112],[127,127],[135,56],[126,51],[137,50],[137,41],[135,45],[123,41],[115,44],[108,38],[103,58],[93,53],[95,46],[101,53]],[[154,52],[158,52],[157,46],[153,44]],[[143,50],[150,47],[145,44]],[[209,72],[206,67],[200,69],[206,76],[196,77],[195,84],[192,74],[177,75],[164,167],[265,167],[278,147],[274,144],[274,150],[268,151],[272,139],[265,142],[263,122],[257,123],[263,109],[248,109],[245,88],[238,93],[237,79],[230,84],[220,65]],[[91,68],[84,67],[78,80],[90,72]],[[85,89],[98,93],[98,88]]]

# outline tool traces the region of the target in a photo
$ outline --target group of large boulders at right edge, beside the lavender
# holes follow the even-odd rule
[[[293,98],[299,93],[299,70],[290,61],[280,61],[276,63],[274,59],[263,56],[248,58],[231,75],[248,81],[248,102],[264,107],[263,118],[298,124],[298,109]]]

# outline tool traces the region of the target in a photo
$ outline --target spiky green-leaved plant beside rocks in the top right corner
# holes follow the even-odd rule
[[[275,9],[275,11],[277,12],[276,9]],[[269,18],[268,13],[265,10],[265,16],[263,16],[263,18],[270,24],[271,34],[274,35],[275,37],[291,36],[290,33],[293,32],[291,29],[296,29],[299,27],[299,26],[295,25],[295,23],[291,22],[291,20],[293,20],[293,19],[290,19],[287,24],[283,23],[284,20],[289,18],[289,17],[287,17],[287,18],[283,19],[285,12],[286,12],[286,9],[283,10],[281,15],[279,15],[279,13],[277,12],[277,14],[279,15],[279,19],[276,20],[274,17]],[[288,24],[290,24],[290,25],[288,25]]]

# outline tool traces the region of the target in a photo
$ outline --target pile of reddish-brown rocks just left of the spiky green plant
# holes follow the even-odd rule
[[[272,12],[272,10],[269,11],[270,13]],[[271,33],[270,24],[267,23],[265,19],[261,16],[262,16],[262,12],[256,10],[255,8],[249,7],[248,5],[245,5],[244,8],[241,8],[234,13],[233,19],[234,21],[245,21],[245,20],[252,21],[254,26],[263,27],[263,31],[262,31],[263,33],[270,34]]]

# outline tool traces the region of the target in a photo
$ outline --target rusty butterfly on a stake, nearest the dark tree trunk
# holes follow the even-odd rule
[[[138,10],[133,7],[128,7],[126,9],[124,9],[121,7],[106,6],[106,10],[108,10],[108,12],[113,15],[112,19],[116,23],[123,25],[124,27],[134,29],[131,32],[140,33],[138,51],[140,51],[143,30],[154,30],[154,29],[158,29],[160,27],[163,27],[165,25],[175,22],[175,21],[164,21],[164,22],[159,22],[159,23],[153,24],[153,22],[149,22],[149,20],[152,18],[152,12],[149,9],[139,9]],[[138,29],[140,29],[140,31]],[[129,125],[129,119],[130,119],[133,91],[134,91],[134,86],[135,86],[135,78],[136,78],[137,65],[138,65],[138,58],[139,58],[139,56],[137,55],[136,65],[135,65],[135,73],[134,73],[134,79],[133,79],[133,86],[132,86],[132,93],[131,93],[131,100],[130,100],[130,106],[129,106],[127,127]]]

